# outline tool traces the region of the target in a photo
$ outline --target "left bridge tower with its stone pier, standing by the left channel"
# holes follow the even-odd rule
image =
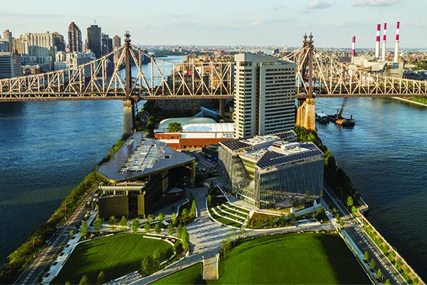
[[[126,31],[125,34],[125,74],[126,74],[126,99],[123,104],[123,137],[131,135],[135,130],[135,102],[130,97],[130,90],[132,88],[132,71],[130,64],[130,33]]]

